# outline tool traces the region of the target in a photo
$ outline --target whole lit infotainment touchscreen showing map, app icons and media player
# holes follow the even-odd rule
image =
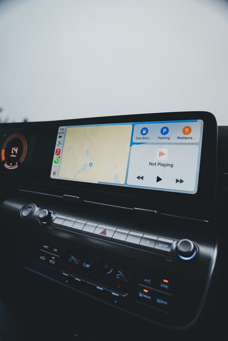
[[[202,120],[59,127],[51,178],[197,192]]]

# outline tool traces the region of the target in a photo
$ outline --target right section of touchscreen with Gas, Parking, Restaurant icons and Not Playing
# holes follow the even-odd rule
[[[202,122],[186,123],[135,125],[129,186],[196,193]]]

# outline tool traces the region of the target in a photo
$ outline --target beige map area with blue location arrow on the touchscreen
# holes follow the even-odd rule
[[[125,183],[131,131],[131,124],[67,128],[59,177]]]

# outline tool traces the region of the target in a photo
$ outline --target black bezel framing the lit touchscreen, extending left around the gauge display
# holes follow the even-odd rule
[[[53,154],[55,150],[56,137],[60,126],[69,125],[88,125],[88,124],[109,124],[109,123],[128,123],[128,122],[151,122],[151,121],[178,121],[178,120],[199,120],[203,121],[203,135],[202,135],[202,149],[199,169],[198,190],[195,194],[168,192],[162,190],[151,190],[141,188],[122,187],[106,184],[96,184],[81,181],[52,179],[50,177]],[[12,129],[19,131],[19,129],[28,129],[36,135],[36,141],[43,139],[38,148],[36,143],[34,153],[37,158],[45,159],[45,166],[39,169],[39,165],[33,157],[30,174],[25,178],[20,174],[6,174],[7,178],[11,177],[18,180],[26,180],[36,183],[49,184],[52,187],[61,187],[70,189],[69,193],[94,192],[96,195],[100,194],[105,201],[105,196],[122,195],[127,198],[144,198],[151,200],[166,200],[171,202],[191,203],[200,205],[213,205],[215,203],[216,193],[216,160],[217,160],[217,123],[213,114],[209,112],[177,112],[177,113],[157,113],[157,114],[137,114],[124,116],[108,116],[95,118],[82,118],[73,120],[60,120],[48,122],[26,122],[26,123],[6,123],[1,124],[0,128]],[[48,144],[48,146],[47,146]],[[42,156],[41,156],[42,155]],[[41,166],[40,166],[41,167]],[[2,174],[0,174],[2,177]]]

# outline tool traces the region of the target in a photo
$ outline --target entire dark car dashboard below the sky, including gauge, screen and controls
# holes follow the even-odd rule
[[[225,328],[227,131],[205,112],[0,125],[1,299],[23,340]]]

